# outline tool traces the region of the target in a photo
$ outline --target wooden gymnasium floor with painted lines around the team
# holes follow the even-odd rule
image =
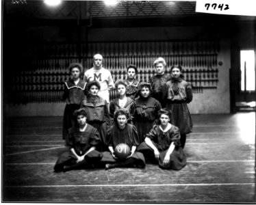
[[[192,115],[180,171],[94,169],[54,173],[66,150],[62,118],[10,118],[3,133],[2,202],[253,203],[255,112]]]

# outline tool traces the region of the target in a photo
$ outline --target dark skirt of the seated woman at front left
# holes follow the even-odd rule
[[[77,163],[77,157],[71,152],[64,152],[60,155],[59,159],[55,163],[54,170],[55,172],[62,172],[64,166],[71,166],[71,169],[86,169],[91,168],[92,165],[99,163],[102,158],[101,152],[97,150],[92,150],[85,157],[84,160]]]

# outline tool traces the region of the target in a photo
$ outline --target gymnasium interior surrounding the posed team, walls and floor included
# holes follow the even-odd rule
[[[113,2],[1,2],[1,202],[255,204],[255,16],[196,12],[196,1]],[[67,150],[68,65],[86,71],[96,53],[114,81],[129,64],[140,81],[157,57],[167,72],[181,64],[193,86],[183,169],[53,172]]]

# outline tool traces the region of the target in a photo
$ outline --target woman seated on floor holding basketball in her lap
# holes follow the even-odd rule
[[[132,124],[127,124],[127,119],[129,119],[127,109],[120,108],[114,112],[114,124],[107,131],[110,152],[103,152],[101,160],[102,163],[105,163],[105,169],[112,169],[114,167],[145,167],[143,154],[136,152],[136,147],[139,145],[136,127]],[[114,148],[120,143],[127,144],[131,150],[131,154],[124,160],[118,159],[114,152]]]

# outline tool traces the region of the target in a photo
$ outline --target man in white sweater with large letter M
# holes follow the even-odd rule
[[[110,103],[110,90],[114,89],[114,81],[112,79],[109,70],[102,67],[103,57],[101,54],[97,53],[93,56],[93,67],[86,70],[84,73],[84,81],[87,83],[90,81],[98,81],[101,85],[101,90],[98,96]]]

